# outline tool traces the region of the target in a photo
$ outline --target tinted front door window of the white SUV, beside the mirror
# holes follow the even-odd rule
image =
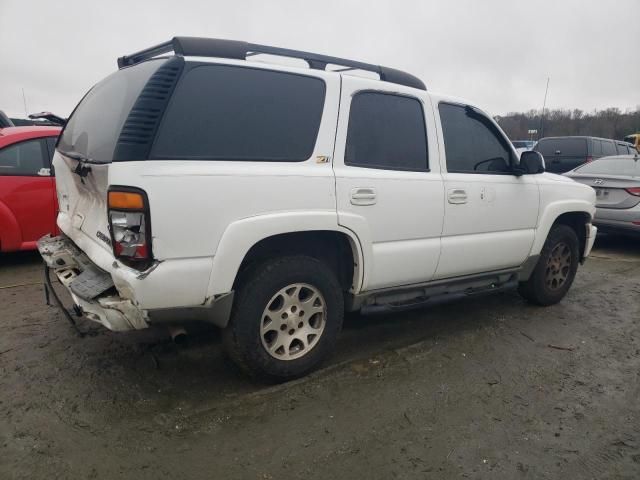
[[[441,103],[438,110],[448,172],[510,172],[511,150],[488,118],[461,105]]]

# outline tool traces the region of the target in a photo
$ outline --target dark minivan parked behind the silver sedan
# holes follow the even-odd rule
[[[547,171],[564,173],[583,163],[618,155],[623,150],[628,153],[632,146],[626,143],[623,146],[623,143],[597,137],[545,137],[538,141],[534,150],[544,157]]]

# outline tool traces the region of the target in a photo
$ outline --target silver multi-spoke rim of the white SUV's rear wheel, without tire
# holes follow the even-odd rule
[[[326,318],[326,303],[317,288],[288,285],[271,297],[262,312],[262,346],[278,360],[303,357],[320,340]]]

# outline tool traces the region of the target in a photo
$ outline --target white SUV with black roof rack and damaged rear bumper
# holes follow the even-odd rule
[[[345,310],[513,287],[549,305],[593,245],[593,189],[407,73],[190,37],[118,65],[60,137],[64,234],[39,242],[111,330],[210,322],[283,380],[327,356]]]

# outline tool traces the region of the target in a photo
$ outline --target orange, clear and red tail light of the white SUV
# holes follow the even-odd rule
[[[145,268],[153,258],[147,194],[133,187],[111,187],[108,215],[115,257],[132,267]]]

